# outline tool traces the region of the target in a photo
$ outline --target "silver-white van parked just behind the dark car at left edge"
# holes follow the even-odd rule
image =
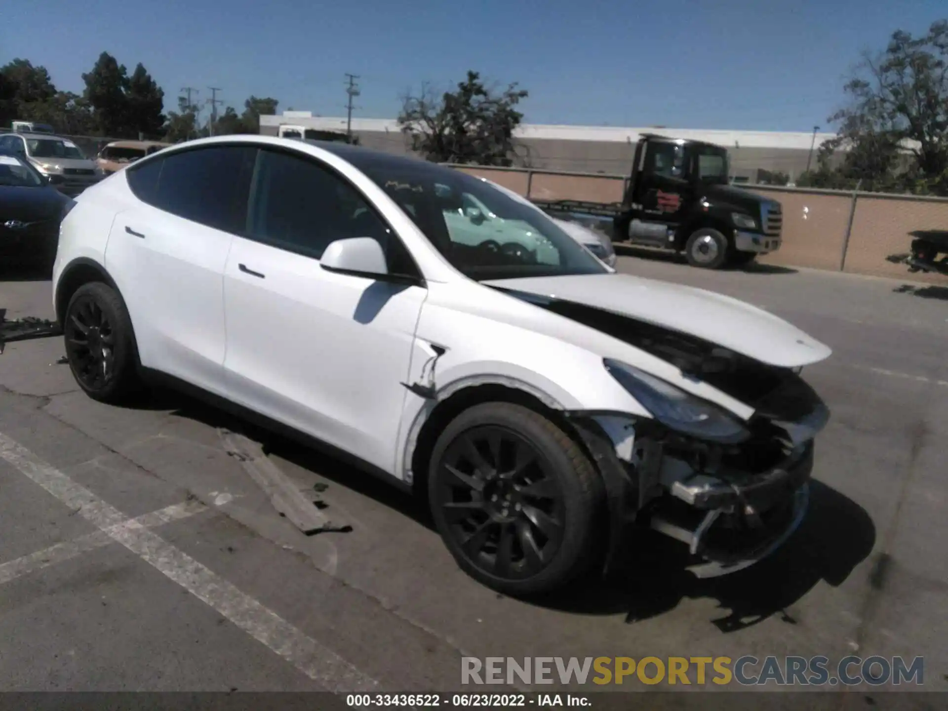
[[[0,151],[20,155],[46,176],[50,184],[75,196],[98,183],[105,173],[68,138],[47,134],[0,136]]]

